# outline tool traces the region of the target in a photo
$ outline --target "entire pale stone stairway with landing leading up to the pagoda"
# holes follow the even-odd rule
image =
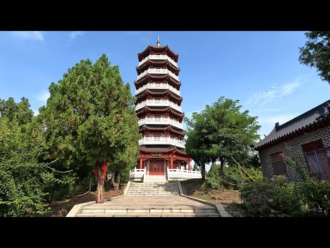
[[[220,217],[217,208],[179,195],[177,183],[131,183],[126,196],[82,207],[77,217]]]

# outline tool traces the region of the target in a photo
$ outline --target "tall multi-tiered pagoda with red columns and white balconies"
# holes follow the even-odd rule
[[[137,168],[147,175],[166,175],[168,169],[190,169],[185,152],[179,71],[168,45],[148,47],[138,54],[135,111],[139,117],[140,158]]]

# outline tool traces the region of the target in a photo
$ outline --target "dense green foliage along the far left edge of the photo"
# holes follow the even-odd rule
[[[14,107],[11,102],[10,109],[19,110],[20,104]],[[30,106],[28,100],[24,105]],[[61,172],[52,163],[39,163],[43,136],[30,115],[5,111],[0,117],[0,216],[44,214],[45,188],[65,182],[56,178]]]

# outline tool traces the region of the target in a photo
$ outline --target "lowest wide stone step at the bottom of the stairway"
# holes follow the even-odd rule
[[[217,213],[114,213],[78,214],[77,217],[220,217]]]

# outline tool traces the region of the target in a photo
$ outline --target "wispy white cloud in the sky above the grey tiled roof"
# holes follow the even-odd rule
[[[301,79],[302,77],[298,76],[291,82],[283,83],[281,85],[274,84],[270,90],[254,94],[253,99],[250,99],[249,103],[252,105],[263,106],[276,99],[280,99],[283,96],[288,96],[289,94],[292,94],[299,85],[301,85]]]

